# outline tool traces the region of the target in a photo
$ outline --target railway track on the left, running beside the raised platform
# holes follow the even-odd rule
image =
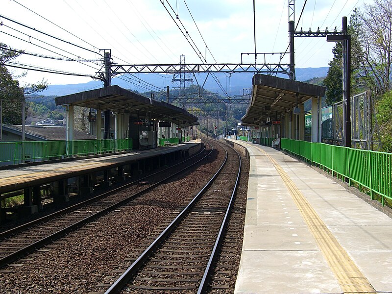
[[[0,233],[0,268],[115,210],[180,172],[196,166],[201,160],[206,159],[212,150],[212,148],[207,150],[204,146],[201,152],[193,157],[165,170],[147,175],[115,190]],[[117,193],[127,188],[131,188],[128,189],[131,191],[129,195],[124,196]]]

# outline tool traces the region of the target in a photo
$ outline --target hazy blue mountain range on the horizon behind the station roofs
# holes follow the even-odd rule
[[[314,77],[324,77],[328,73],[328,67],[319,68],[296,68],[296,80],[306,81]],[[186,75],[188,80],[186,86],[192,84],[203,85],[204,89],[216,93],[218,91],[219,95],[223,95],[223,91],[218,85],[217,80],[220,82],[222,88],[231,97],[235,95],[243,95],[243,89],[251,88],[253,73],[214,73],[208,76],[207,80],[205,78],[207,73],[196,73],[194,76],[191,74]],[[279,77],[287,77],[286,75],[278,74]],[[118,85],[125,89],[131,89],[133,91],[137,90],[139,93],[149,92],[149,91],[160,91],[165,90],[166,87],[170,88],[179,87],[178,81],[172,82],[172,74],[156,74],[156,73],[138,73],[133,74],[130,78],[128,76],[117,76],[112,79],[112,85]],[[191,81],[192,79],[192,81]],[[92,89],[98,89],[102,87],[101,81],[90,81],[82,84],[68,84],[68,85],[50,85],[47,90],[40,93],[40,95],[45,96],[64,96],[73,93],[88,91]]]

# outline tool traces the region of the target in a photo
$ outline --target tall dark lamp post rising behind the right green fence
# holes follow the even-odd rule
[[[351,36],[347,34],[347,17],[342,18],[343,35],[327,35],[327,42],[343,47],[343,134],[345,147],[351,147]]]

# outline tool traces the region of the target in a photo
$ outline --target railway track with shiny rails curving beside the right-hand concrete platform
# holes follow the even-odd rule
[[[233,148],[221,145],[226,150],[226,159],[219,171],[159,236],[146,245],[147,249],[106,294],[206,291],[241,173],[240,155]]]

